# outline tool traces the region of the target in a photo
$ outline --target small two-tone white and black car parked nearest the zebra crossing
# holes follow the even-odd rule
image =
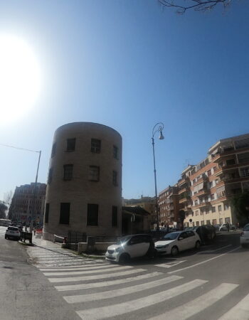
[[[107,247],[105,259],[124,263],[134,257],[143,257],[145,255],[152,257],[155,252],[152,235],[126,235],[120,238],[117,244]]]

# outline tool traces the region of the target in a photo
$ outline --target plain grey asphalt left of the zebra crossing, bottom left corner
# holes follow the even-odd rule
[[[5,240],[0,227],[0,319],[79,319],[53,284],[28,262],[26,246]]]

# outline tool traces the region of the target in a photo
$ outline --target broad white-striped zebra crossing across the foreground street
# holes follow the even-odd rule
[[[80,319],[211,319],[205,313],[223,299],[236,295],[240,286],[207,279],[185,279],[164,270],[107,262],[70,267],[38,267],[55,285],[61,299],[73,306]],[[237,302],[237,304],[236,304]],[[216,320],[248,320],[249,294]],[[205,316],[203,314],[205,313]],[[197,318],[196,318],[197,316]],[[213,319],[212,319],[213,320]]]

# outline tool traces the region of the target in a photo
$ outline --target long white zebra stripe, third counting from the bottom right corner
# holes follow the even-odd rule
[[[123,302],[121,304],[110,304],[109,306],[102,306],[100,308],[85,309],[76,311],[81,319],[107,319],[111,316],[120,316],[127,312],[137,311],[139,309],[159,304],[173,297],[179,296],[184,292],[189,292],[191,289],[205,284],[206,280],[195,279],[191,282],[181,284],[177,287],[168,289],[166,291],[157,292],[156,294],[149,295],[147,297],[134,299],[131,302]],[[164,318],[165,319],[165,318]]]

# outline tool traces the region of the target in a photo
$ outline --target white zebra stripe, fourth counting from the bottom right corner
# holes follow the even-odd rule
[[[183,277],[179,276],[170,276],[163,279],[158,279],[155,281],[146,282],[144,284],[138,284],[137,286],[133,287],[126,287],[121,289],[116,289],[112,291],[105,291],[105,292],[96,292],[93,294],[80,294],[75,296],[68,296],[63,297],[66,302],[69,304],[75,304],[79,302],[90,302],[102,299],[109,299],[114,297],[124,296],[125,294],[132,294],[134,292],[141,292],[147,289],[151,289],[154,287],[159,287],[163,284],[168,284],[170,282],[174,282],[176,280],[183,279]]]

